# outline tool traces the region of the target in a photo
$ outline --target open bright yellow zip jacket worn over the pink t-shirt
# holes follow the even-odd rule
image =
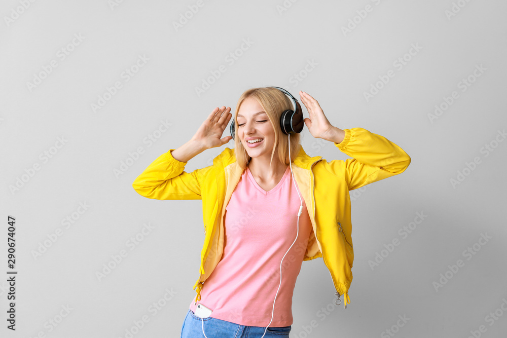
[[[344,129],[345,138],[334,143],[351,159],[327,160],[308,156],[300,147],[292,163],[294,178],[308,207],[313,227],[303,260],[322,257],[331,273],[338,298],[350,303],[348,289],[352,281],[352,223],[349,190],[401,174],[410,157],[385,137],[363,128]],[[243,171],[236,162],[234,149],[225,148],[213,159],[213,165],[184,171],[187,162],[174,159],[170,149],[159,156],[132,183],[141,196],[157,200],[201,200],[204,221],[204,245],[196,302],[204,281],[222,258],[224,214],[232,192]]]

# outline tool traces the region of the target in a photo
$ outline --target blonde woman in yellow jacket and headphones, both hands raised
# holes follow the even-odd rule
[[[342,295],[345,308],[350,304],[349,191],[402,173],[410,157],[366,129],[331,125],[312,96],[299,94],[309,118],[279,87],[245,91],[233,136],[222,138],[231,108],[217,107],[190,141],[162,154],[133,182],[147,198],[203,203],[200,276],[182,338],[288,336],[302,262],[317,257],[330,271],[337,304]],[[351,158],[308,156],[300,144],[303,121],[313,137],[334,142]],[[225,148],[213,165],[184,171],[194,156],[232,138],[235,148]]]

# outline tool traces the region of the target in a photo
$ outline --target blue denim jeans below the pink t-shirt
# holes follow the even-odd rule
[[[204,338],[202,330],[207,338],[261,338],[266,327],[244,326],[212,317],[197,317],[189,309],[187,317],[182,325],[182,338]],[[291,326],[269,327],[264,335],[265,338],[288,337]]]

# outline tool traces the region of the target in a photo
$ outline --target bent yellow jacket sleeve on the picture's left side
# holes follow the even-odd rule
[[[132,183],[141,196],[157,200],[200,200],[201,182],[212,166],[196,169],[191,173],[183,171],[188,162],[172,157],[170,149],[144,169]]]

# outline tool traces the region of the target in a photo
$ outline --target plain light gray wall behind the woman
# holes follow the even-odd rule
[[[291,337],[382,337],[393,325],[399,337],[504,336],[507,141],[498,132],[507,126],[507,3],[204,1],[177,30],[173,23],[196,1],[36,1],[27,9],[21,3],[0,5],[1,336],[125,337],[143,316],[149,322],[135,337],[179,336],[199,277],[201,202],[143,198],[132,181],[188,141],[214,107],[234,112],[244,90],[262,86],[304,90],[333,125],[383,135],[412,158],[403,174],[351,192],[355,260],[346,310],[332,305],[335,290],[322,259],[303,262]],[[367,5],[371,12],[360,18],[356,11]],[[456,15],[449,16],[453,6]],[[344,33],[354,17],[358,24]],[[74,40],[61,60],[58,51],[74,34],[84,40]],[[243,39],[252,44],[241,51]],[[411,45],[422,49],[406,55]],[[231,64],[230,53],[241,56]],[[149,60],[125,82],[122,72],[139,55]],[[399,69],[393,62],[404,56],[410,61]],[[58,66],[30,90],[27,83],[52,60]],[[226,71],[197,95],[195,87],[221,65]],[[395,76],[367,101],[364,92],[389,70]],[[475,82],[462,91],[459,83],[469,76]],[[123,87],[94,112],[91,104],[116,81]],[[430,121],[453,91],[459,97]],[[161,120],[171,125],[157,134]],[[145,142],[154,133],[157,141]],[[58,137],[67,140],[59,149]],[[302,143],[311,156],[348,158],[306,126]],[[201,153],[186,171],[210,165],[226,146],[233,142]],[[138,147],[143,154],[117,177],[114,170]],[[51,150],[56,154],[45,162],[40,154]],[[479,164],[468,170],[475,158]],[[27,176],[35,164],[40,170]],[[466,176],[453,186],[458,171]],[[12,193],[23,175],[27,181]],[[80,202],[89,205],[82,214]],[[417,212],[427,216],[403,238],[399,230]],[[73,213],[79,218],[66,228],[61,220]],[[8,215],[17,229],[15,332],[6,328]],[[126,242],[145,223],[153,230],[130,250]],[[35,258],[58,228],[61,236]],[[492,238],[477,244],[481,234]],[[369,261],[393,239],[399,245],[372,269]],[[474,244],[480,250],[464,255]],[[121,250],[128,255],[99,281],[96,273]],[[448,266],[458,259],[464,266],[453,273]],[[446,273],[452,278],[436,288]],[[166,289],[173,293],[167,302]],[[164,306],[155,314],[156,302]],[[62,306],[70,312],[51,325]],[[332,311],[322,315],[325,307]],[[495,311],[502,316],[487,317]],[[410,319],[397,326],[399,316]]]

